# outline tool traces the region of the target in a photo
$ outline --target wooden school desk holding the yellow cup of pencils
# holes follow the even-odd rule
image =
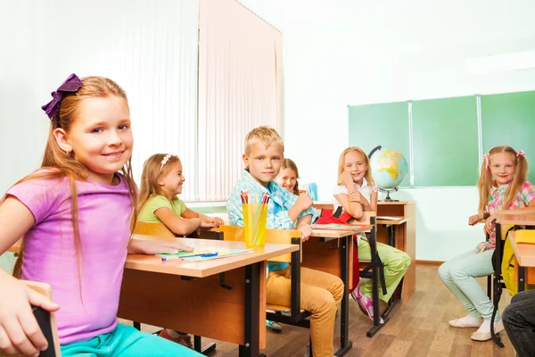
[[[193,246],[245,248],[243,242],[137,236]],[[121,286],[122,319],[186,331],[240,345],[240,356],[259,356],[266,346],[266,261],[299,250],[266,244],[253,253],[206,262],[161,262],[129,254]]]

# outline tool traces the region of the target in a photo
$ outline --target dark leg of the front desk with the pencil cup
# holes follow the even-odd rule
[[[245,267],[245,341],[240,345],[240,357],[259,356],[260,263]]]

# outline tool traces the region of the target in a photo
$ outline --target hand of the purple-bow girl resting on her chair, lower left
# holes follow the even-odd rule
[[[30,304],[46,311],[57,311],[60,305],[7,275],[0,278],[0,286],[0,351],[7,355],[37,355],[48,343]]]

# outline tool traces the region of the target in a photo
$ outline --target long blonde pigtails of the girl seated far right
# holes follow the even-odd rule
[[[490,189],[493,185],[492,174],[490,173],[490,162],[492,161],[492,155],[498,153],[511,154],[515,162],[513,181],[511,182],[511,185],[506,188],[505,200],[502,209],[507,210],[509,208],[509,204],[513,202],[514,195],[516,195],[516,193],[518,192],[520,187],[522,187],[523,183],[528,177],[528,161],[523,155],[519,155],[518,153],[516,153],[514,148],[508,145],[500,145],[490,149],[489,166],[487,166],[486,160],[483,159],[483,162],[481,163],[480,178],[477,181],[477,188],[480,194],[480,202],[477,212],[481,220],[483,219],[483,216],[487,211],[487,203],[489,202]]]

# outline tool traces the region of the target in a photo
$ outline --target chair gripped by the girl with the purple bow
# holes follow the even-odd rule
[[[37,293],[52,299],[52,288],[48,284],[29,280],[21,281]],[[62,351],[60,349],[60,339],[58,337],[58,328],[56,326],[54,313],[45,311],[36,306],[32,306],[32,310],[39,324],[39,328],[43,331],[43,335],[45,335],[46,341],[48,342],[48,348],[39,353],[39,356],[61,357]]]

